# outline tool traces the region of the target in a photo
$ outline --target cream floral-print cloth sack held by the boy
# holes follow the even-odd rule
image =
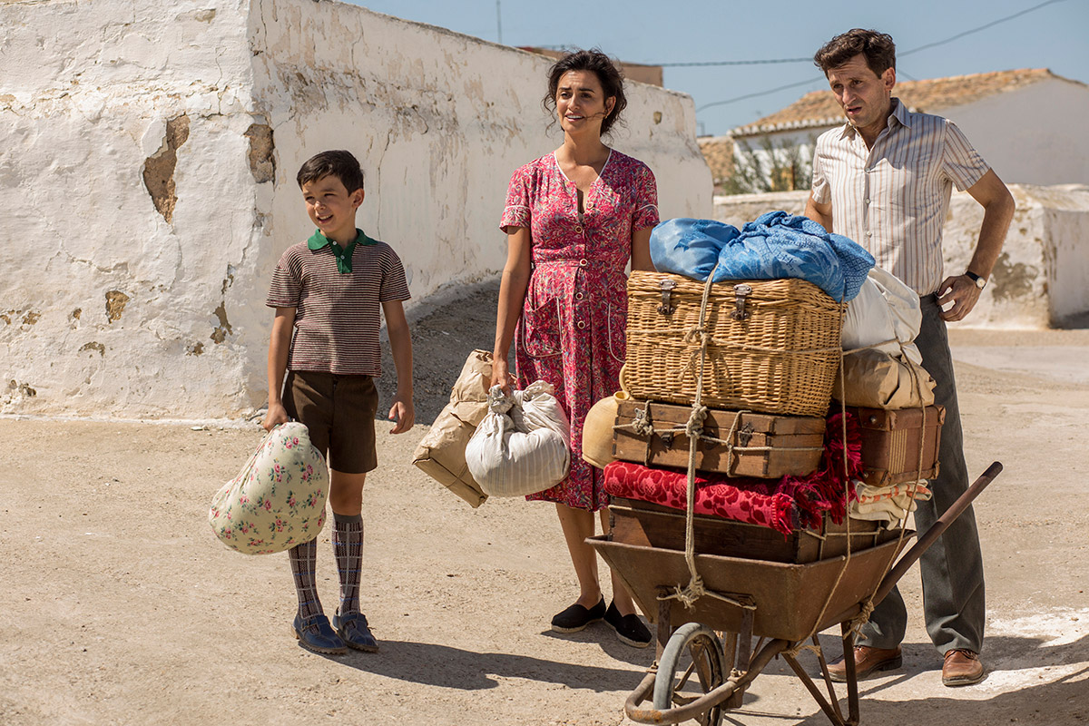
[[[329,470],[302,423],[272,429],[238,476],[216,492],[208,524],[243,554],[262,555],[309,542],[326,524]]]

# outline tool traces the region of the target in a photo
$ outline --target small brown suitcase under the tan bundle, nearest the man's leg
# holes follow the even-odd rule
[[[938,476],[938,447],[945,421],[942,406],[892,409],[848,406],[847,410],[858,417],[862,434],[862,481],[867,484],[890,487]]]

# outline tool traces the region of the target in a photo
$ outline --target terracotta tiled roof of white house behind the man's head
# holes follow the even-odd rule
[[[1057,76],[1048,69],[1020,69],[927,81],[903,81],[893,88],[893,96],[900,98],[913,111],[930,113],[953,106],[972,103],[995,94],[1016,90],[1051,78],[1078,83]],[[825,88],[810,91],[785,109],[747,126],[735,128],[732,133],[734,136],[748,136],[786,128],[830,126],[841,124],[843,121],[843,111],[835,102],[832,93]]]

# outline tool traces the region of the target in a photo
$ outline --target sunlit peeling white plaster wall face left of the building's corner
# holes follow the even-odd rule
[[[244,13],[225,0],[0,5],[0,411],[244,407],[240,352],[210,340],[253,237]],[[179,116],[189,134],[168,223],[142,174]],[[127,297],[112,320],[107,295]]]

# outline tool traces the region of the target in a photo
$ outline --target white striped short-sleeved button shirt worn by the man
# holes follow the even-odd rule
[[[817,139],[812,197],[831,202],[833,232],[929,295],[944,280],[942,225],[953,186],[963,192],[989,169],[952,121],[911,113],[894,98],[872,149],[851,124]]]

